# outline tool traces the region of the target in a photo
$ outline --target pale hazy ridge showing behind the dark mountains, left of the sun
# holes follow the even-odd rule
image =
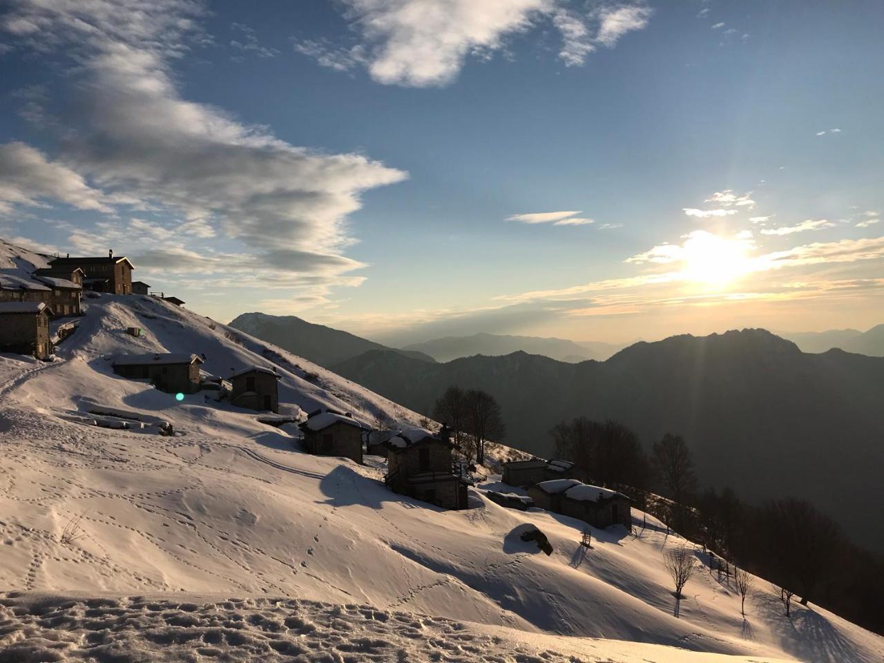
[[[429,354],[438,362],[450,362],[453,359],[471,357],[475,354],[500,356],[521,350],[528,354],[542,354],[560,362],[576,363],[585,362],[588,359],[605,360],[626,345],[478,333],[472,336],[446,336],[444,339],[415,343],[404,349]]]

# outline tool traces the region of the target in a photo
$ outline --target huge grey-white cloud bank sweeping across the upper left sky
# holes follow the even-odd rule
[[[313,278],[315,289],[343,282],[343,273],[362,266],[341,255],[354,241],[347,215],[359,209],[362,191],[407,174],[359,154],[293,146],[183,99],[170,63],[203,41],[201,11],[189,0],[14,4],[4,27],[28,48],[74,57],[77,67],[64,91],[74,140],[61,143],[55,162],[20,143],[5,146],[7,157],[17,157],[0,177],[7,202],[56,198],[81,209],[127,203],[161,210],[183,218],[176,240],[219,231],[228,250],[230,240],[248,250],[239,262],[260,266],[263,275]],[[22,171],[21,161],[30,170]],[[152,223],[136,225],[144,233]],[[157,230],[153,239],[163,234]],[[81,233],[71,241],[90,239]]]

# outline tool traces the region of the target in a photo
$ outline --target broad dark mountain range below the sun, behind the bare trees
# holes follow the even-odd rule
[[[605,362],[516,352],[430,363],[371,350],[331,370],[428,414],[447,385],[480,387],[501,404],[507,444],[544,456],[552,425],[577,415],[626,423],[648,446],[677,432],[705,485],[811,499],[884,550],[884,530],[863,520],[884,503],[884,358],[805,354],[751,329],[636,343]]]

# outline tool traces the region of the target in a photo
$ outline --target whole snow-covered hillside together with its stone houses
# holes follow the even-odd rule
[[[445,423],[136,289],[126,257],[0,248],[0,652],[15,660],[50,651],[45,613],[116,629],[51,645],[99,660],[212,638],[268,660],[476,660],[469,643],[492,636],[494,660],[884,657],[818,606],[785,618],[760,578],[741,614],[726,560],[568,460],[500,446],[469,466]],[[697,569],[683,598],[679,551]],[[83,591],[125,598],[29,603]],[[332,604],[337,631],[320,621]],[[364,633],[354,650],[345,623]]]

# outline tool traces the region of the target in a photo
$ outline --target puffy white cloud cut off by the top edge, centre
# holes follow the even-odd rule
[[[368,68],[386,85],[430,87],[454,79],[467,57],[487,57],[508,36],[552,22],[562,38],[560,58],[581,65],[598,46],[613,47],[623,34],[643,29],[644,4],[603,2],[578,12],[564,0],[342,0],[344,16],[360,41],[335,46],[296,40],[294,49],[338,70]]]

